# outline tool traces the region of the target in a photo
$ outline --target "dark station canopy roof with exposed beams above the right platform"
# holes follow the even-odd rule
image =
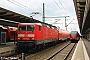
[[[90,27],[90,1],[89,0],[73,0],[78,24],[81,34],[84,34]]]

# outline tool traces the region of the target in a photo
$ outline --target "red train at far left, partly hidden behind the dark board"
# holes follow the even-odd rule
[[[6,41],[14,41],[14,38],[17,38],[17,28],[15,27],[3,27],[0,26],[0,32],[6,32]],[[14,35],[15,33],[15,35]],[[16,40],[16,39],[15,39]]]

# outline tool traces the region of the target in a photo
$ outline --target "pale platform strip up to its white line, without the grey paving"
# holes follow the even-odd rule
[[[80,38],[71,60],[89,60],[83,39]]]

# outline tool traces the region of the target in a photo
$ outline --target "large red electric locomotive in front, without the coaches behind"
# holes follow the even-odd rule
[[[56,27],[41,23],[19,23],[17,48],[40,47],[58,41]]]

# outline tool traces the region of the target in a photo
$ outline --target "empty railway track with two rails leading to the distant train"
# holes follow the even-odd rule
[[[47,58],[46,60],[66,60],[76,43],[70,43],[61,48],[58,52]]]

